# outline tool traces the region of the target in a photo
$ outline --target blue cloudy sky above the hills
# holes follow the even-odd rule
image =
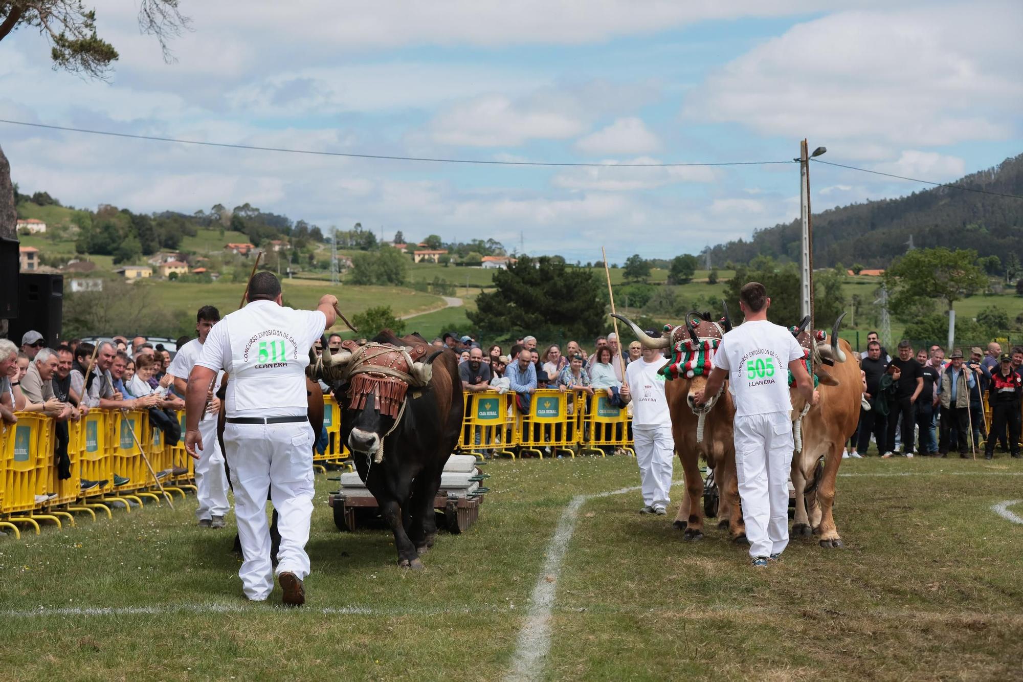
[[[91,4],[91,3],[89,3]],[[182,0],[177,61],[96,0],[108,83],[0,42],[0,118],[355,154],[571,163],[825,160],[953,180],[1023,152],[1023,4],[847,0]],[[283,7],[286,6],[286,9]],[[798,166],[345,159],[0,124],[21,190],[192,212],[249,202],[391,239],[570,260],[698,253],[798,216]],[[920,185],[815,164],[814,211]],[[520,248],[520,244],[523,245]]]

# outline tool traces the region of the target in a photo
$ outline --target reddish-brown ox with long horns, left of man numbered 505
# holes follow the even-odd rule
[[[709,313],[691,311],[685,315],[685,324],[665,331],[661,338],[648,336],[632,321],[624,315],[616,317],[632,328],[636,338],[648,348],[672,348],[683,353],[686,342],[720,341],[724,333],[731,330],[728,311],[720,322],[711,319]],[[675,363],[673,358],[670,364]],[[721,492],[718,507],[718,527],[727,527],[736,542],[746,542],[746,526],[739,501],[739,484],[736,478],[736,446],[732,439],[732,422],[736,406],[727,386],[712,396],[702,408],[694,403],[694,396],[707,384],[707,374],[687,377],[679,371],[675,379],[665,382],[664,392],[671,412],[671,434],[675,441],[675,452],[682,463],[685,477],[685,494],[678,508],[673,525],[684,530],[685,540],[703,538],[704,510],[703,478],[700,476],[700,458],[714,469],[714,477]]]

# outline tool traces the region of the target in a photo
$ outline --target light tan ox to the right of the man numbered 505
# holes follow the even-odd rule
[[[832,368],[814,363],[814,374],[820,380],[817,389],[820,400],[809,409],[800,425],[793,427],[793,433],[797,428],[802,432],[802,450],[798,450],[797,442],[797,452],[792,458],[792,484],[797,493],[792,535],[818,535],[820,546],[829,548],[842,547],[832,515],[835,483],[842,464],[842,449],[856,430],[863,392],[859,363],[851,359],[858,358],[858,354],[852,352],[847,341],[838,338],[838,328],[844,316],[845,313],[835,322],[830,343],[816,346],[820,359],[834,361]],[[795,389],[790,394],[793,421],[798,422],[806,401]],[[817,461],[821,455],[825,462],[819,469]],[[802,496],[800,491],[804,492]]]

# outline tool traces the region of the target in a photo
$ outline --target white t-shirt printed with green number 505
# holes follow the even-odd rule
[[[728,372],[736,416],[789,412],[789,363],[803,349],[792,333],[766,319],[745,322],[724,335],[714,367]]]

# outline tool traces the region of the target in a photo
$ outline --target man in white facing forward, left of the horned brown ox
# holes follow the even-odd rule
[[[657,332],[647,332],[656,337]],[[632,402],[632,435],[635,441],[643,507],[640,514],[667,513],[671,502],[671,472],[675,441],[671,436],[671,413],[664,395],[664,355],[657,348],[642,349],[642,357],[625,369],[626,384],[619,395]]]

